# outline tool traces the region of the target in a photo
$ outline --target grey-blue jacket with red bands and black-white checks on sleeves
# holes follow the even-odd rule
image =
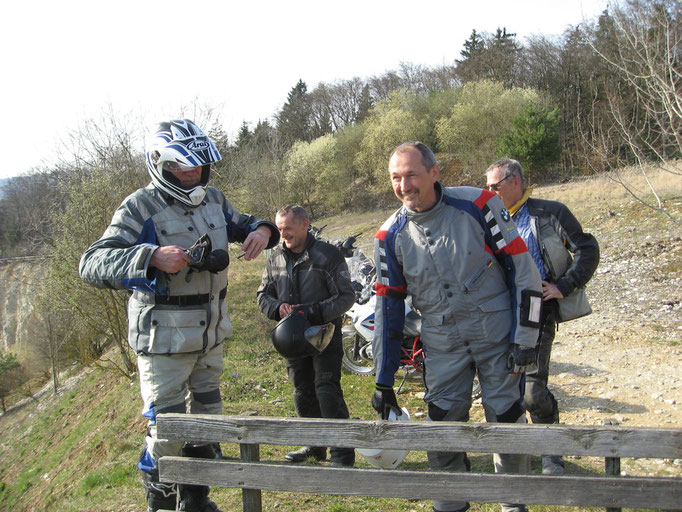
[[[440,343],[429,340],[436,331],[434,340],[466,345],[537,342],[540,275],[509,212],[487,190],[435,187],[433,208],[403,206],[375,237],[373,353],[382,386],[393,385],[399,366],[408,294],[425,345]]]

